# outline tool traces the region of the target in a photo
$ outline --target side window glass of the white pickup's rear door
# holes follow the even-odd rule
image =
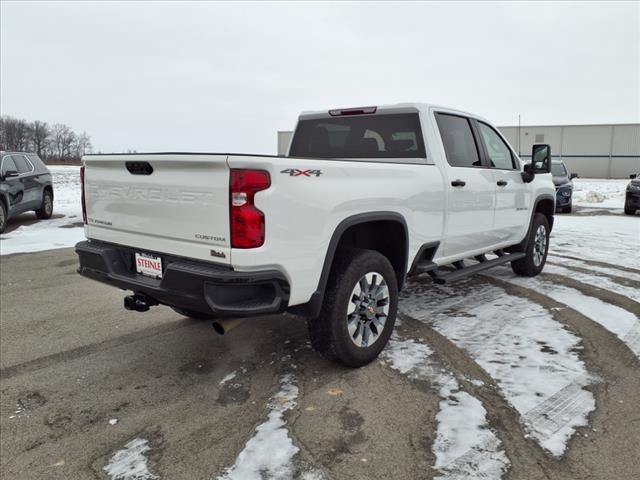
[[[467,118],[436,113],[436,122],[449,165],[452,167],[482,166]]]

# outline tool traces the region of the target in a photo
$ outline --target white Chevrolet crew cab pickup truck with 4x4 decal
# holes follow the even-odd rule
[[[302,113],[283,157],[87,155],[78,271],[132,291],[127,309],[168,305],[220,330],[304,316],[316,350],[361,366],[386,345],[408,276],[542,270],[549,146],[532,158],[481,117],[413,103]]]

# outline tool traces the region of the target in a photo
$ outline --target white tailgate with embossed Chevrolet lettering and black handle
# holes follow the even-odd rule
[[[226,155],[85,156],[86,236],[230,263]]]

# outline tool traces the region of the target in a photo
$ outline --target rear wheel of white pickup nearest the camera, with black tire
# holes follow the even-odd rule
[[[386,346],[397,310],[398,282],[389,260],[373,250],[341,252],[331,269],[320,315],[308,319],[311,344],[344,366],[361,367]]]

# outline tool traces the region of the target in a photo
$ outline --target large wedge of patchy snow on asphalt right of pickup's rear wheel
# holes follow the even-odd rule
[[[455,289],[411,284],[400,308],[466,350],[552,454],[562,455],[575,428],[587,424],[595,401],[575,353],[580,339],[545,308],[477,281]]]

